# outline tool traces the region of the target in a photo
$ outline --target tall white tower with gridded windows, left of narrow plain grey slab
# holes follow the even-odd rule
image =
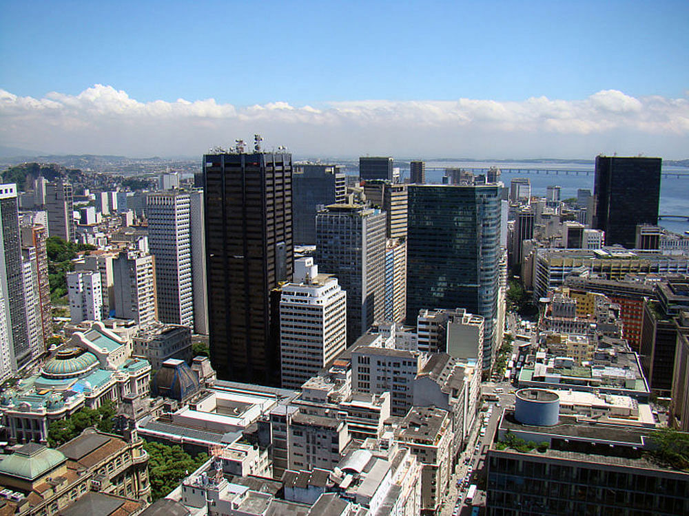
[[[148,245],[156,258],[158,319],[194,326],[189,194],[151,193],[147,202]]]

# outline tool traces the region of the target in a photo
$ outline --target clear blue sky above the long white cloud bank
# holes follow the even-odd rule
[[[688,1],[0,1],[0,9],[0,89],[12,105],[14,96],[77,97],[94,85],[144,105],[212,98],[326,110],[363,100],[580,103],[609,90],[672,103],[689,89]],[[0,117],[15,116],[5,108]],[[666,124],[677,144],[686,143],[685,108]],[[10,143],[58,144],[32,143],[28,125],[11,120],[19,133]],[[648,122],[646,111],[639,120]]]

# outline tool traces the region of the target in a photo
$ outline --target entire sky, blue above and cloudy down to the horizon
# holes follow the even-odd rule
[[[689,158],[687,1],[0,0],[0,145]]]

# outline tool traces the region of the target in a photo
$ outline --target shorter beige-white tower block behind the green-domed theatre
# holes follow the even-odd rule
[[[155,260],[137,250],[123,250],[112,261],[115,316],[141,327],[158,319]]]

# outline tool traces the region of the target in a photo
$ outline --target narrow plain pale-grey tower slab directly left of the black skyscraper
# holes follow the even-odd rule
[[[194,333],[208,334],[206,292],[206,232],[203,190],[189,192],[189,233],[192,239],[192,288],[194,289]]]

